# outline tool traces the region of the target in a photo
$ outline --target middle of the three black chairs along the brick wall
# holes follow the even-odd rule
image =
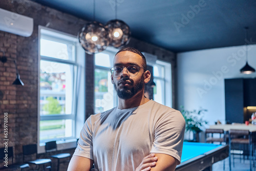
[[[32,160],[26,160],[28,158]],[[29,163],[30,165],[36,166],[34,169],[39,169],[40,166],[42,166],[43,170],[48,170],[49,167],[47,166],[52,165],[51,159],[38,159],[36,144],[23,145],[23,161]]]

